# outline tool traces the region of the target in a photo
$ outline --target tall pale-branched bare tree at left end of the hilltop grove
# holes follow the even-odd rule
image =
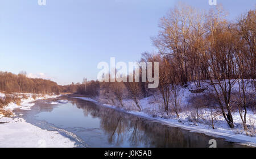
[[[191,6],[179,4],[160,19],[158,37],[153,39],[154,45],[163,55],[171,55],[179,69],[183,84],[188,80],[188,41],[192,28],[195,9]]]

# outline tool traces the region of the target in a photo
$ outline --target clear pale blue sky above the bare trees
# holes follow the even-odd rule
[[[154,52],[150,37],[159,19],[179,2],[210,9],[208,0],[0,1],[0,71],[46,78],[67,85],[96,80],[97,64],[138,61]],[[255,0],[217,0],[228,18],[254,9]]]

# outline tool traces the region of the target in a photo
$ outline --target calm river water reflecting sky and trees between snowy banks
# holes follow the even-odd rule
[[[60,99],[67,102],[51,104]],[[36,101],[31,110],[15,111],[28,123],[59,131],[77,147],[209,147],[210,139],[217,147],[246,147],[76,98]]]

